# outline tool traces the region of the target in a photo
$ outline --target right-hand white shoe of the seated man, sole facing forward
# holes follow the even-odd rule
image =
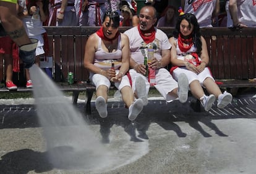
[[[179,102],[186,103],[189,92],[189,80],[186,74],[182,73],[178,77],[178,92]]]

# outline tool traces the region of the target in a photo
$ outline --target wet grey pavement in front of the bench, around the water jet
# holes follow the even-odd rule
[[[231,105],[195,112],[190,97],[185,104],[151,98],[130,122],[122,101],[108,102],[101,119],[92,102],[90,129],[120,158],[104,170],[53,167],[46,157],[43,128],[36,106],[2,101],[0,105],[0,173],[255,173],[255,90],[233,98]],[[21,104],[27,103],[27,104]],[[84,103],[75,107],[81,113]],[[101,165],[101,164],[96,164]]]

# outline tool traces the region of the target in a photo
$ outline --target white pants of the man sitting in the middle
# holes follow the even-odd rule
[[[138,76],[142,76],[146,83],[147,93],[150,88],[150,84],[148,82],[148,78],[143,76],[140,73],[137,73],[134,69],[129,70],[130,76],[132,77],[132,90],[135,91],[135,80]],[[176,96],[169,95],[168,93],[173,91],[178,87],[177,82],[173,79],[169,71],[165,68],[156,69],[156,85],[155,88],[167,102],[171,102],[176,99]]]

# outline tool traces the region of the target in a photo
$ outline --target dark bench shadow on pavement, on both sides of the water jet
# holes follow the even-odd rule
[[[111,127],[118,125],[130,136],[130,141],[140,142],[148,139],[147,130],[152,122],[160,125],[164,130],[172,130],[179,137],[186,137],[176,122],[186,122],[190,127],[200,132],[204,137],[211,135],[203,130],[200,122],[207,125],[219,136],[228,136],[212,122],[215,119],[237,119],[237,118],[256,118],[256,98],[252,95],[234,97],[233,101],[226,108],[216,108],[216,102],[209,112],[195,112],[191,105],[195,103],[194,98],[189,97],[187,103],[173,101],[166,103],[163,100],[150,100],[148,105],[143,108],[134,122],[127,118],[128,109],[124,107],[122,101],[108,102],[108,117],[100,118],[95,103],[92,102],[92,115],[85,116],[88,124],[100,125],[100,133],[103,143],[109,143]],[[75,107],[84,114],[84,103],[78,103]],[[202,110],[202,109],[201,109]],[[33,105],[1,105],[0,106],[0,129],[40,127],[36,117],[36,108]],[[136,135],[136,131],[139,135]],[[139,138],[138,138],[139,137]],[[140,139],[142,138],[142,139]]]

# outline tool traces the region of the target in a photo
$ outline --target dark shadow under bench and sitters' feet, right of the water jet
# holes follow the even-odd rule
[[[199,124],[200,122],[215,131],[216,135],[228,136],[221,132],[212,120],[256,118],[256,98],[234,98],[232,103],[224,109],[217,108],[215,103],[209,112],[201,111],[199,113],[190,107],[194,102],[196,101],[193,98],[190,98],[189,102],[184,104],[179,103],[179,101],[166,103],[163,100],[150,100],[134,122],[127,119],[128,111],[124,108],[122,102],[108,103],[109,116],[106,119],[101,119],[98,116],[95,105],[92,103],[93,113],[92,116],[87,116],[87,122],[89,124],[100,124],[102,141],[103,143],[109,143],[108,135],[114,124],[124,127],[124,130],[130,135],[131,141],[138,141],[135,130],[139,133],[139,138],[147,140],[147,130],[152,122],[160,125],[164,130],[176,132],[179,137],[186,137],[186,133],[182,132],[175,122],[187,122],[190,127],[207,138],[211,135],[203,130]]]

